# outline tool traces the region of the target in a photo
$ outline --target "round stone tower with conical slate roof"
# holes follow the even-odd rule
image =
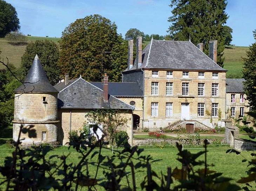
[[[21,133],[22,143],[56,142],[58,137],[58,91],[49,83],[36,54],[25,83],[15,90],[13,139],[21,125],[33,126],[36,138]]]

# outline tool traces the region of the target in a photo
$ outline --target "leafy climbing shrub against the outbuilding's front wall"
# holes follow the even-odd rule
[[[112,146],[115,144],[115,134],[120,128],[126,128],[128,119],[118,109],[94,109],[88,112],[85,117],[90,123],[102,125],[107,132],[107,140]]]

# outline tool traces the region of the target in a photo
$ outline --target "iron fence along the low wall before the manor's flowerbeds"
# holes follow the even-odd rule
[[[142,130],[133,131],[133,139],[224,139],[225,129],[215,128],[195,128],[193,131],[188,131],[186,128],[159,128],[150,127]]]

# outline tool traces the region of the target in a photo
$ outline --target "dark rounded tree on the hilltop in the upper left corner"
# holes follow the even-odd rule
[[[6,1],[0,0],[0,37],[20,29],[20,21],[15,8]]]

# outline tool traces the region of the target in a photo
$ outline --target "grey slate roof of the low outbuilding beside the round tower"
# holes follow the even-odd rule
[[[65,82],[61,83],[65,85]],[[58,86],[60,87],[61,85]],[[134,109],[133,106],[111,95],[109,95],[107,103],[103,102],[103,91],[82,78],[74,80],[60,90],[58,94],[58,107],[81,109]]]

